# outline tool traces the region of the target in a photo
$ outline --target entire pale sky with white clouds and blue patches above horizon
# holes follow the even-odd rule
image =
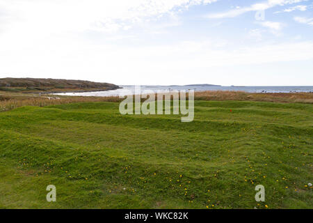
[[[0,78],[312,86],[313,0],[0,0]]]

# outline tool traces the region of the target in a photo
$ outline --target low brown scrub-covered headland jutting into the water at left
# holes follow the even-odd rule
[[[109,91],[120,86],[109,83],[89,82],[74,79],[1,78],[0,91],[15,93],[63,93],[86,91]]]

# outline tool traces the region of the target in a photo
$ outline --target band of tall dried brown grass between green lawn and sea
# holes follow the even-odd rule
[[[61,105],[74,102],[120,102],[118,97],[67,96],[54,98],[34,95],[0,95],[0,111],[5,112],[22,106]],[[143,99],[145,100],[145,99]],[[313,104],[313,93],[247,93],[243,91],[202,91],[195,92],[195,100],[240,100],[284,103]]]

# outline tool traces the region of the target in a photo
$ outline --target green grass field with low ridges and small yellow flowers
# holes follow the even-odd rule
[[[1,112],[0,208],[313,208],[312,104],[195,101],[191,123],[118,107]]]

